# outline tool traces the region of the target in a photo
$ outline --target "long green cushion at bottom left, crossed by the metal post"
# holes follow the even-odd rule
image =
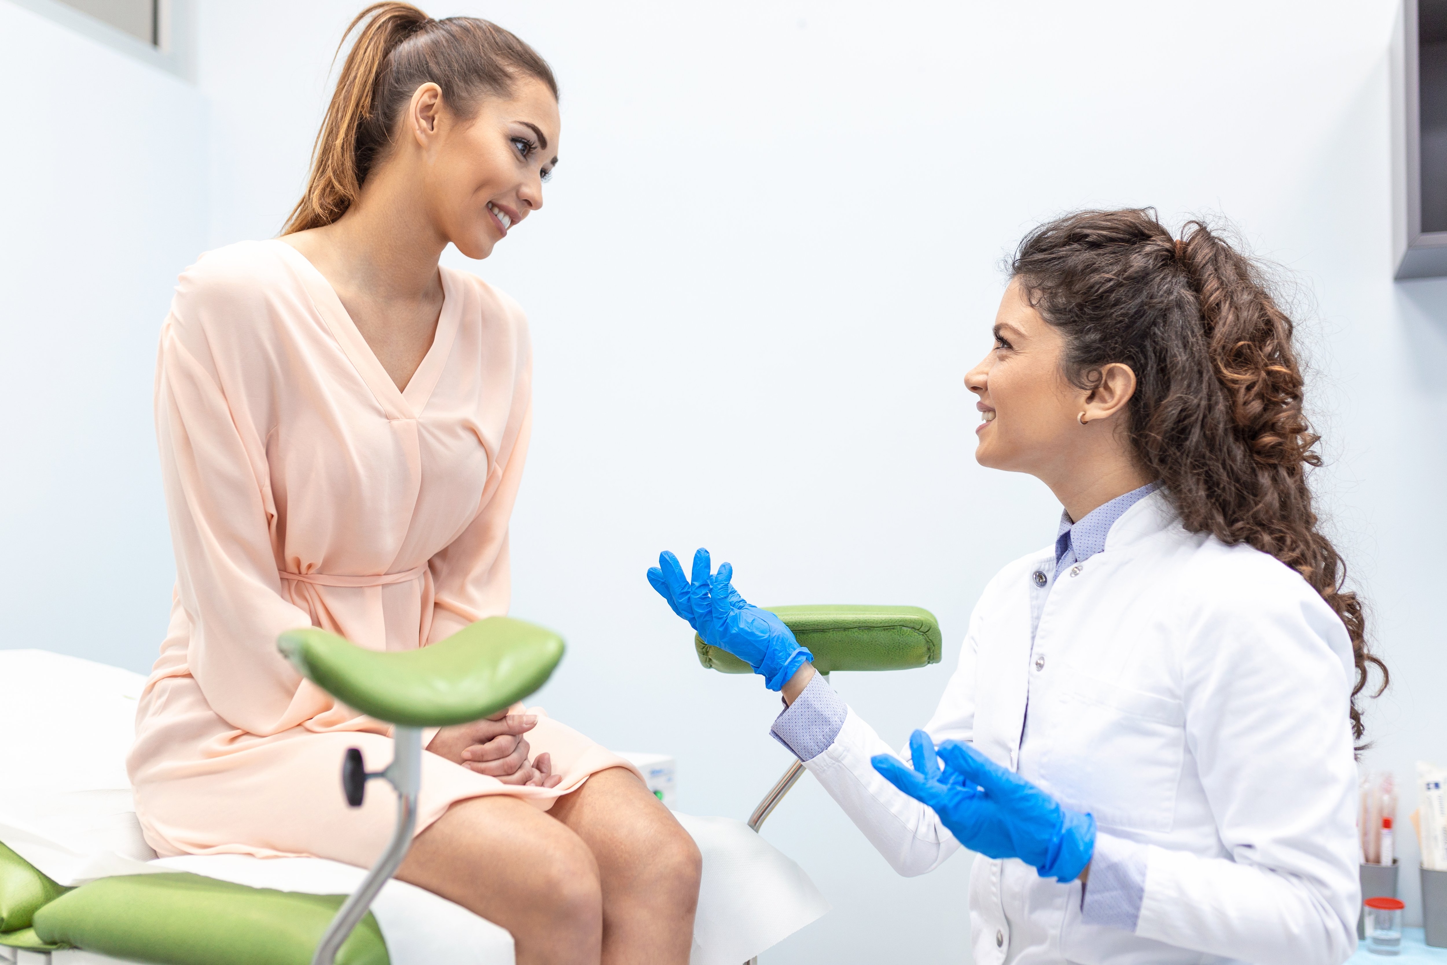
[[[55,945],[155,965],[310,965],[346,900],[249,888],[187,872],[100,878],[35,914]],[[337,965],[389,965],[369,911],[343,943]]]

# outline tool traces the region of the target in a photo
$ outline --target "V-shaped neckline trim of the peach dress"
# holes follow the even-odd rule
[[[386,417],[389,420],[411,420],[421,415],[423,409],[427,408],[427,399],[431,398],[433,389],[437,388],[437,382],[441,379],[443,369],[447,366],[447,356],[451,353],[453,341],[457,337],[457,324],[462,317],[462,301],[457,297],[456,285],[449,278],[447,269],[441,265],[437,266],[437,273],[443,282],[443,308],[437,315],[433,344],[427,347],[427,354],[423,356],[417,370],[412,372],[412,378],[407,381],[407,388],[398,389],[396,382],[386,373],[382,362],[372,352],[372,346],[362,336],[362,330],[352,321],[352,315],[347,313],[346,305],[341,304],[337,289],[331,286],[327,276],[311,263],[311,259],[287,242],[281,239],[271,240],[273,245],[285,249],[284,259],[291,263],[302,288],[311,297],[311,304],[315,307],[317,314],[321,315],[321,320],[331,331],[331,337],[341,346],[341,352],[346,353],[352,362],[352,367],[362,376],[368,389],[372,391],[372,396],[386,412]]]

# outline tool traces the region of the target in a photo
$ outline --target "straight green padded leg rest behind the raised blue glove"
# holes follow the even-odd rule
[[[815,670],[909,670],[938,664],[939,621],[919,606],[768,606],[815,655]],[[709,647],[697,634],[699,663],[726,674],[752,673],[748,664]]]

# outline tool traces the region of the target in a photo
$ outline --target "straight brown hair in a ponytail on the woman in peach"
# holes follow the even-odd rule
[[[343,43],[353,30],[357,38],[317,132],[307,191],[282,234],[331,224],[346,214],[391,148],[398,116],[423,84],[437,84],[443,104],[462,117],[472,116],[480,97],[511,94],[522,77],[543,81],[557,97],[547,62],[488,20],[433,20],[408,3],[373,3],[347,26]]]

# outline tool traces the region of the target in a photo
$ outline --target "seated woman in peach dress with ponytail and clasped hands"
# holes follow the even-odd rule
[[[287,231],[203,256],[162,328],[177,592],[130,755],[162,855],[369,865],[392,803],[349,809],[340,762],[385,762],[388,726],[276,635],[411,650],[508,609],[527,323],[438,258],[486,258],[541,207],[556,82],[485,20],[383,3],[357,23]],[[699,852],[622,758],[521,706],[424,739],[399,878],[506,927],[521,965],[687,961]]]

